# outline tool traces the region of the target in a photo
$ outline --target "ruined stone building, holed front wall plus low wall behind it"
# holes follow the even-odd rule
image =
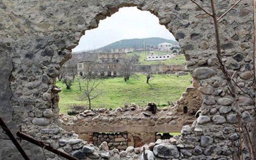
[[[211,13],[210,1],[196,2]],[[234,4],[234,1],[227,0],[214,2],[218,17]],[[238,96],[234,98],[216,57],[212,18],[190,1],[70,0],[56,3],[2,0],[0,117],[12,133],[21,130],[79,159],[232,159],[237,155],[240,138],[245,138],[244,144],[247,135],[245,127],[238,127],[234,104],[239,105],[239,118],[247,126],[256,148],[255,5],[255,1],[243,0],[219,20],[222,62],[239,84],[235,90]],[[100,20],[113,15],[119,8],[131,6],[151,12],[159,19],[160,25],[174,34],[185,53],[187,69],[194,79],[193,87],[181,95],[177,105],[160,108],[155,110],[156,113],[147,113],[151,106],[131,105],[114,111],[82,112],[67,118],[69,123],[66,123],[66,119],[59,116],[58,93],[61,89],[56,86],[61,66],[72,57],[72,49],[85,31],[97,28]],[[189,94],[195,89],[200,92],[201,99]],[[190,108],[189,104],[196,107]],[[158,113],[163,115],[159,117]],[[194,119],[184,116],[194,114]],[[116,134],[100,134],[102,131],[93,130],[94,126],[98,126],[96,129],[102,127],[103,132]],[[85,130],[87,128],[91,130]],[[181,136],[154,142],[153,131],[169,132],[171,129],[181,129]],[[119,131],[121,133],[117,134]],[[151,135],[140,136],[139,131]],[[94,133],[87,135],[88,132]],[[137,135],[131,136],[129,132]],[[84,141],[87,138],[95,143]],[[114,141],[122,151],[111,148],[116,147],[114,143],[105,141]],[[25,140],[19,143],[30,159],[63,159]],[[128,147],[129,143],[131,146]],[[144,147],[137,147],[141,145]],[[251,159],[248,147],[243,145],[242,149],[244,159]],[[1,127],[0,159],[22,159]]]

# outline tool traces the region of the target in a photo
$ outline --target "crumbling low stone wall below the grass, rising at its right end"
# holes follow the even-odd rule
[[[128,146],[141,147],[155,142],[158,132],[180,132],[182,126],[195,121],[195,113],[202,102],[197,87],[187,87],[178,102],[157,108],[156,113],[150,111],[151,103],[145,107],[132,103],[114,110],[85,110],[76,116],[60,115],[60,118],[64,129],[74,130],[79,139],[95,146],[106,142],[111,149],[124,150]],[[119,141],[118,138],[124,140]]]

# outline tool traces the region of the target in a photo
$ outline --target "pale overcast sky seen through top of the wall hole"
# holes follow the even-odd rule
[[[120,8],[111,17],[100,20],[99,27],[86,31],[74,52],[93,50],[122,39],[160,37],[175,40],[158,18],[136,7]]]

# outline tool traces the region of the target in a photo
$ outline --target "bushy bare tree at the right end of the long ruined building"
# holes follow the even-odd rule
[[[128,81],[130,77],[134,74],[135,64],[138,63],[139,57],[133,55],[131,57],[125,57],[120,60],[120,74],[123,75],[124,81]]]

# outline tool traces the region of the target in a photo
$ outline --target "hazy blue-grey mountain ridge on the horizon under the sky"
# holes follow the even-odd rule
[[[123,49],[123,48],[135,48],[139,49],[143,45],[152,45],[152,46],[157,46],[159,43],[163,42],[168,42],[172,44],[179,44],[179,42],[175,40],[170,40],[170,39],[164,39],[164,38],[159,38],[159,37],[151,37],[151,38],[134,38],[134,39],[123,39],[116,41],[114,43],[111,43],[109,45],[105,45],[104,47],[101,47],[97,50],[102,50],[102,51],[109,51],[111,49]]]

